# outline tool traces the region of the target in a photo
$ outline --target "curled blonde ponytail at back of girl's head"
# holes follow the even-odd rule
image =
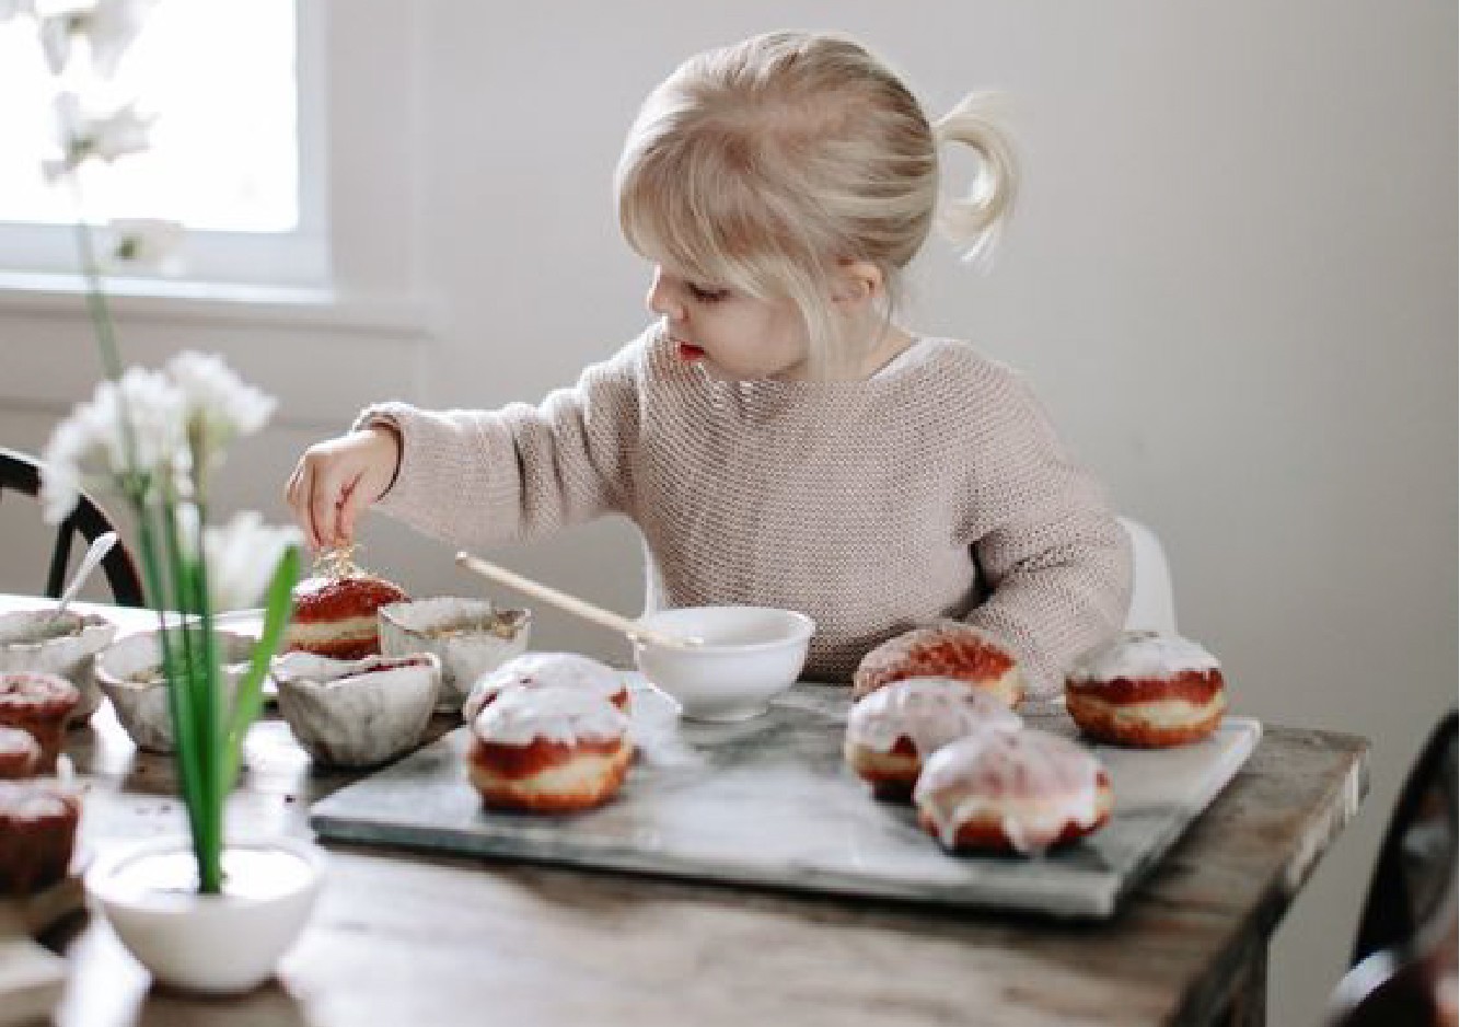
[[[964,260],[986,260],[999,241],[1016,191],[1018,171],[1007,136],[990,118],[996,93],[975,92],[933,124],[937,142],[953,140],[978,152],[980,169],[962,199],[939,203],[937,226],[962,250]]]

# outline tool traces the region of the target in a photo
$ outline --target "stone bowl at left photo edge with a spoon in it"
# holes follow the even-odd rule
[[[117,637],[117,625],[96,614],[20,609],[0,614],[0,673],[31,671],[66,678],[82,694],[70,726],[86,723],[101,706],[93,672],[96,653]]]

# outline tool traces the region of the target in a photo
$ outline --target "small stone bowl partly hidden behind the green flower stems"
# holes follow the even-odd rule
[[[232,706],[238,682],[248,671],[257,638],[237,631],[215,631],[223,662],[223,703]],[[168,682],[162,676],[162,646],[156,631],[127,635],[96,657],[96,684],[111,700],[117,720],[139,749],[172,751],[172,716]]]

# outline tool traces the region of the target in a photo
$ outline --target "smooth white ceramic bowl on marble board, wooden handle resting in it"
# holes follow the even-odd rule
[[[796,684],[816,622],[771,606],[685,606],[638,621],[705,644],[669,649],[635,641],[634,659],[691,720],[748,720]]]

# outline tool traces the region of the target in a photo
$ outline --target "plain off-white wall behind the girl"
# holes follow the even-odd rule
[[[635,333],[647,275],[618,238],[610,172],[635,105],[691,51],[842,29],[934,114],[1003,89],[1026,168],[1016,221],[987,276],[930,245],[911,321],[1028,371],[1165,541],[1183,630],[1223,659],[1240,711],[1374,741],[1369,802],[1278,935],[1272,1020],[1315,1023],[1402,774],[1456,695],[1454,6],[515,7],[333,10],[343,285],[385,314],[251,332],[133,311],[139,358],[216,346],[285,397],[229,498],[282,516],[293,453],[368,399],[536,399]],[[0,297],[0,437],[39,446],[80,393],[76,332],[55,304]],[[28,356],[42,339],[74,359]],[[28,587],[4,524],[0,589]],[[477,589],[399,526],[364,541],[418,593]],[[639,600],[623,524],[492,555]],[[550,612],[537,643],[625,654]]]

